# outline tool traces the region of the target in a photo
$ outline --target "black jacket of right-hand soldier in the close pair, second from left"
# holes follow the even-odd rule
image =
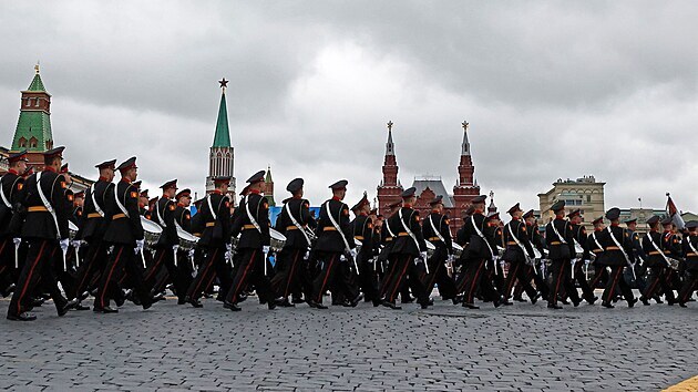
[[[129,213],[127,217],[116,205],[115,198],[119,198],[121,205]],[[104,241],[135,247],[135,241],[143,239],[143,225],[141,224],[141,214],[138,214],[138,189],[130,182],[121,179],[116,184],[114,193],[106,192],[105,202],[109,225],[106,233],[104,233]]]

